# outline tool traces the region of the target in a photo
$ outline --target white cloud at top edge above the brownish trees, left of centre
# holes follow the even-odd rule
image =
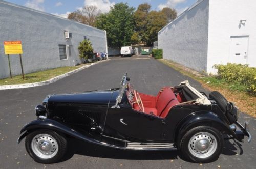
[[[110,7],[115,5],[115,2],[110,2],[110,0],[84,0],[84,5],[94,5],[101,12],[109,12]]]

